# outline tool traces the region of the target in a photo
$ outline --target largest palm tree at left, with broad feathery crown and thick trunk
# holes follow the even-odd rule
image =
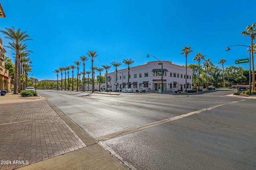
[[[5,30],[0,30],[5,35],[5,38],[12,40],[12,42],[15,44],[15,50],[16,50],[16,56],[15,56],[15,64],[14,64],[14,89],[13,94],[17,94],[17,83],[18,83],[18,57],[19,57],[19,50],[20,45],[24,41],[32,40],[29,39],[29,35],[26,34],[26,31],[21,32],[20,28],[15,30],[15,28],[12,26],[11,28],[5,28]],[[9,45],[12,43],[9,42]]]

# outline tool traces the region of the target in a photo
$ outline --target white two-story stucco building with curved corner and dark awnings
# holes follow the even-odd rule
[[[163,63],[163,90],[177,91],[185,90],[187,77],[187,90],[192,89],[192,69],[172,64],[170,61],[161,61]],[[106,76],[106,74],[105,74]],[[146,90],[148,92],[161,89],[161,63],[159,61],[150,61],[144,65],[130,67],[130,78],[128,83],[128,68],[108,72],[108,90],[122,90],[130,88],[134,92]],[[106,83],[101,87],[105,87]]]

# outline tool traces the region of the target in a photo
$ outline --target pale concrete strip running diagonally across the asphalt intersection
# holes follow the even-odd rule
[[[163,119],[163,120],[160,120],[160,121],[155,121],[155,122],[152,122],[152,123],[148,123],[146,125],[142,125],[142,126],[134,127],[134,128],[131,128],[131,129],[126,129],[126,130],[123,130],[123,131],[111,133],[111,134],[108,134],[108,135],[105,135],[105,136],[102,136],[102,137],[98,137],[95,140],[98,141],[98,142],[106,141],[108,139],[113,139],[113,138],[116,138],[116,137],[127,135],[129,133],[134,133],[136,131],[141,131],[143,129],[147,129],[147,128],[154,127],[154,126],[157,126],[157,125],[161,125],[163,123],[167,123],[167,122],[170,122],[170,121],[182,119],[184,117],[188,117],[188,116],[191,116],[191,115],[194,115],[194,114],[197,114],[197,113],[201,113],[203,111],[208,111],[208,110],[211,110],[211,109],[215,109],[217,107],[221,107],[221,106],[224,106],[224,105],[233,104],[233,103],[237,103],[237,102],[240,102],[240,101],[229,102],[229,103],[226,103],[226,104],[219,104],[219,105],[216,105],[216,106],[207,107],[207,108],[200,109],[200,110],[197,110],[197,111],[192,111],[190,113],[186,113],[186,114],[183,114],[183,115],[179,115],[179,116],[175,116],[175,117],[170,117],[168,119]]]

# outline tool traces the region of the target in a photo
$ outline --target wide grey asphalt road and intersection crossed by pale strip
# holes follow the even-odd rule
[[[132,169],[256,169],[256,99],[38,90]],[[229,96],[228,96],[229,95]]]

